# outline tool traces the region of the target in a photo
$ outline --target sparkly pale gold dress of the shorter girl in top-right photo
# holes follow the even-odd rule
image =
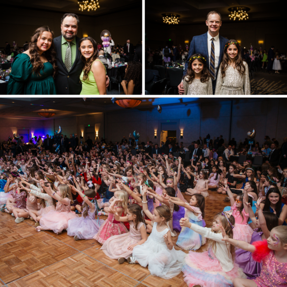
[[[193,79],[191,82],[187,82],[185,79],[187,79],[188,76],[186,76],[183,80],[183,89],[184,89],[184,95],[212,95],[212,82],[211,78],[209,77],[209,80],[201,83],[198,79]]]

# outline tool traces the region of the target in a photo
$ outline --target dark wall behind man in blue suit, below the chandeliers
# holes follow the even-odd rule
[[[164,47],[166,41],[171,39],[174,44],[181,44],[188,40],[189,44],[193,36],[207,32],[205,22],[192,25],[162,25],[154,22],[146,24],[146,43],[152,49]],[[259,48],[259,40],[263,40],[262,49],[269,49],[274,45],[275,50],[286,52],[287,40],[282,38],[284,34],[283,21],[254,21],[254,22],[232,22],[223,21],[220,34],[228,39],[241,40],[242,47]]]

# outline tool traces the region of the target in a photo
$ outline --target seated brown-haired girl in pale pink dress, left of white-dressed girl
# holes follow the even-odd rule
[[[135,246],[147,241],[145,218],[141,207],[137,204],[128,205],[125,217],[120,217],[115,207],[112,211],[116,221],[129,223],[129,232],[110,237],[101,249],[108,257],[117,259],[122,264],[132,254]]]

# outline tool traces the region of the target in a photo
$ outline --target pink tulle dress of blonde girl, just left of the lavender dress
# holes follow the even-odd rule
[[[44,230],[52,230],[59,234],[67,229],[69,220],[78,217],[74,211],[71,211],[71,200],[67,197],[65,199],[68,201],[68,205],[58,201],[56,210],[51,210],[42,216],[39,223]]]

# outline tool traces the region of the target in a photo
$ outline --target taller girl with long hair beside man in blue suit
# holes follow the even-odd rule
[[[216,83],[216,95],[250,95],[248,65],[236,40],[226,42]]]

